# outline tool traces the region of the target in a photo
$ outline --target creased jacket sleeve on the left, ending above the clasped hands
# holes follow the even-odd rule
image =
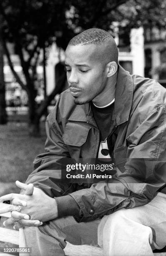
[[[62,140],[60,124],[56,120],[58,102],[46,119],[45,153],[38,155],[34,162],[34,171],[26,183],[33,183],[51,197],[64,194],[70,184],[61,184],[61,164],[63,158],[70,157],[68,149]],[[68,190],[72,191],[72,190]]]

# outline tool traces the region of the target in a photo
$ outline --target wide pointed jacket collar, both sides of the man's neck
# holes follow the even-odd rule
[[[116,125],[128,121],[133,100],[133,79],[129,72],[119,66],[115,92],[114,116]],[[93,119],[91,104],[76,105],[69,121],[90,122],[96,124]]]

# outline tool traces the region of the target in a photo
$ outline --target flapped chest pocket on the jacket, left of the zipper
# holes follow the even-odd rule
[[[70,146],[82,146],[86,143],[91,126],[86,123],[68,122],[63,133],[63,141]]]

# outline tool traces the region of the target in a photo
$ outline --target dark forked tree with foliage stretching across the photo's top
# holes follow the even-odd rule
[[[157,7],[157,9],[156,9]],[[55,94],[65,82],[59,78],[53,92],[45,97],[39,108],[35,104],[34,79],[40,49],[54,40],[65,49],[77,33],[91,27],[111,30],[113,21],[119,26],[131,27],[157,24],[165,26],[164,0],[4,0],[0,2],[3,19],[2,41],[10,68],[21,87],[28,94],[30,133],[39,133],[39,120]],[[25,81],[15,72],[7,42],[11,41],[23,68]]]

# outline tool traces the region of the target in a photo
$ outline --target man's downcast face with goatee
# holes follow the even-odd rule
[[[100,47],[90,44],[69,45],[65,51],[67,79],[75,104],[100,97],[106,87],[106,64],[99,50]]]

